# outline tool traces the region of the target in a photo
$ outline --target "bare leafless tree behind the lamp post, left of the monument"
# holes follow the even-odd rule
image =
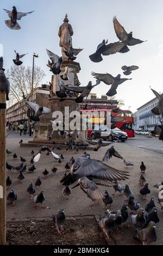
[[[40,66],[34,66],[33,88],[40,86],[42,79],[45,77],[45,72]],[[13,65],[7,71],[7,77],[10,81],[10,105],[15,102],[22,101],[22,95],[31,94],[32,92],[32,67]]]

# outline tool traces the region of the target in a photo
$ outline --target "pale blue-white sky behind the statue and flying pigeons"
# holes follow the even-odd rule
[[[9,29],[4,20],[8,15],[4,9],[11,10],[15,5],[17,11],[34,13],[23,17],[18,23],[19,31]],[[51,81],[52,72],[46,66],[48,56],[46,48],[61,56],[59,47],[59,26],[63,23],[65,14],[73,28],[72,43],[74,48],[84,48],[77,56],[81,71],[78,74],[82,86],[95,79],[91,71],[108,72],[112,76],[121,74],[121,78],[133,78],[121,84],[117,89],[116,99],[123,99],[125,106],[135,112],[138,107],[153,99],[151,86],[158,92],[162,89],[163,69],[163,1],[162,0],[1,0],[0,1],[0,44],[3,44],[4,68],[8,69],[15,58],[14,50],[27,53],[22,61],[24,65],[32,66],[33,52],[39,54],[35,64],[41,66],[46,77],[43,83]],[[97,45],[103,39],[108,42],[118,41],[114,32],[112,18],[117,20],[135,38],[147,40],[142,44],[129,46],[127,53],[116,53],[103,56],[103,61],[93,63],[89,55],[96,51]],[[139,69],[130,76],[123,75],[121,66],[138,65]],[[103,82],[92,93],[97,96],[108,92],[110,86]]]

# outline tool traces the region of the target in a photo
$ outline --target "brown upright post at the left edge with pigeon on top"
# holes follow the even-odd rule
[[[6,95],[0,93],[0,245],[6,242]]]

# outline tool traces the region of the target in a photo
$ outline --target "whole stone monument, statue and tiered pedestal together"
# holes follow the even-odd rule
[[[70,47],[72,47],[72,38],[73,29],[70,23],[68,23],[67,14],[64,19],[64,23],[59,27],[60,42],[59,46],[61,47],[62,58],[64,62],[62,63],[60,70],[61,72],[58,75],[52,75],[52,81],[49,86],[49,95],[48,95],[48,108],[51,109],[51,113],[47,115],[43,115],[40,117],[40,121],[34,125],[34,141],[38,142],[42,141],[58,141],[58,142],[70,142],[70,140],[74,140],[76,142],[82,143],[83,139],[87,138],[87,131],[80,130],[79,135],[77,132],[74,132],[72,137],[68,137],[66,135],[59,136],[58,131],[52,132],[52,121],[55,120],[53,117],[53,113],[55,111],[61,111],[63,115],[65,115],[65,107],[69,107],[69,112],[79,111],[80,106],[75,102],[75,96],[67,96],[64,100],[61,100],[55,92],[59,91],[59,81],[63,81],[64,84],[72,84],[74,86],[79,86],[78,73],[80,71],[80,64],[78,62],[74,62],[70,58],[67,57],[65,51],[68,51]],[[80,50],[81,51],[81,50]],[[76,59],[76,57],[74,57]],[[71,69],[71,72],[68,73],[68,80],[62,80],[61,76],[64,74],[65,67]],[[64,116],[65,118],[65,116]],[[71,118],[70,118],[71,120]],[[82,127],[82,120],[81,120]],[[66,130],[67,131],[67,130]],[[70,132],[70,130],[69,130]]]

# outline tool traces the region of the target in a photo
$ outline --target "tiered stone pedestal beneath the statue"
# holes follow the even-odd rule
[[[72,71],[68,74],[69,80],[62,80],[61,75],[64,74],[66,66],[68,66],[68,68],[73,69],[74,71]],[[48,108],[51,109],[51,113],[40,117],[40,121],[34,125],[34,141],[35,142],[45,141],[45,144],[46,144],[46,142],[49,141],[49,136],[52,135],[52,131],[53,131],[52,121],[55,120],[55,118],[56,118],[56,116],[54,118],[55,111],[61,111],[64,116],[63,121],[65,121],[65,107],[69,108],[69,113],[71,113],[72,111],[80,110],[79,104],[76,103],[76,101],[75,101],[76,98],[67,96],[64,101],[60,101],[60,98],[57,95],[55,95],[55,92],[60,90],[59,86],[58,86],[59,81],[63,81],[65,84],[75,85],[76,79],[77,79],[76,74],[79,71],[80,71],[80,64],[77,62],[68,60],[62,64],[60,74],[53,75],[53,93],[54,93],[54,95],[51,95],[51,97],[49,97],[49,101],[48,101]],[[70,121],[72,119],[73,118],[70,118]],[[80,124],[81,124],[81,129],[80,129],[78,138],[77,138],[77,131],[75,131],[73,133],[72,137],[68,137],[66,135],[59,136],[58,131],[55,131],[52,135],[51,141],[70,142],[72,139],[73,141],[76,141],[79,143],[84,143],[83,139],[87,139],[87,131],[82,130],[82,119],[80,119]],[[67,129],[65,129],[65,130],[70,131]]]

